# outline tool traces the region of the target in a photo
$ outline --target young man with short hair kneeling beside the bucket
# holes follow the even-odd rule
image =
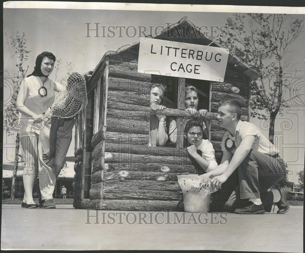
[[[289,211],[285,189],[273,189],[286,174],[286,163],[275,146],[253,124],[241,121],[242,107],[237,100],[219,103],[219,126],[227,129],[221,143],[221,164],[205,174],[212,178],[213,187],[221,189],[238,167],[239,185],[229,197],[226,208],[238,214],[264,214],[272,204],[278,214]]]

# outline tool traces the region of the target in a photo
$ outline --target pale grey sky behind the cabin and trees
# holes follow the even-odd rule
[[[76,3],[75,3],[76,4]],[[12,60],[7,44],[7,38],[17,31],[24,33],[27,50],[30,51],[26,65],[29,65],[27,74],[33,71],[35,59],[37,55],[43,51],[52,52],[57,58],[61,58],[64,62],[72,62],[74,71],[84,73],[85,71],[95,68],[101,60],[104,53],[109,50],[116,51],[120,46],[139,42],[139,26],[147,29],[145,35],[149,35],[150,28],[154,34],[158,26],[167,27],[166,23],[178,22],[183,16],[188,16],[196,26],[224,26],[226,19],[232,16],[232,13],[220,12],[201,12],[181,11],[156,11],[152,8],[147,10],[110,10],[103,9],[102,4],[95,3],[95,9],[21,9],[21,8],[5,8],[3,10],[3,32],[4,32],[4,70],[9,76],[5,77],[4,102],[7,104],[10,97],[10,77],[16,73],[16,67]],[[52,6],[53,8],[54,6]],[[75,6],[74,6],[75,7]],[[77,5],[76,5],[77,8]],[[159,7],[159,9],[162,7]],[[220,9],[219,9],[220,10]],[[115,30],[115,35],[111,32],[105,32],[106,38],[94,37],[95,31],[90,31],[87,36],[87,25],[89,28],[95,28],[94,23],[104,26],[105,31],[110,26],[136,27],[137,35],[134,34],[133,28],[128,28],[126,33],[122,28],[120,36],[119,30]],[[142,29],[145,29],[142,28]],[[161,31],[161,28],[157,28]],[[114,30],[114,28],[112,29]],[[210,31],[209,29],[207,31]],[[304,31],[303,31],[304,32]],[[102,28],[99,28],[99,36],[103,35]],[[109,37],[107,38],[107,35]],[[128,37],[128,36],[129,37]],[[209,34],[211,36],[211,32]],[[86,38],[87,36],[87,38]],[[302,35],[303,36],[303,35]],[[113,37],[113,38],[111,38]],[[304,38],[304,37],[303,37]],[[303,40],[304,41],[304,40]],[[292,49],[287,54],[287,59],[293,61],[295,70],[304,71],[304,42],[298,40],[293,43]],[[56,66],[55,66],[56,67]],[[61,66],[58,70],[58,79],[66,74],[66,69]],[[304,73],[304,72],[302,72]],[[295,76],[294,72],[291,73]],[[300,72],[299,72],[299,75]],[[55,79],[55,70],[50,75],[51,79]],[[300,83],[304,87],[302,77],[297,76],[294,81],[301,80]],[[285,94],[285,98],[289,99],[289,93]],[[304,146],[305,146],[305,116],[303,108],[293,105],[285,108],[284,115],[277,117],[275,131],[275,144],[280,148],[280,155],[288,164],[290,171],[289,180],[298,184],[296,173],[304,167]],[[268,131],[265,129],[264,121],[251,119],[263,131],[265,136]],[[4,132],[4,153],[3,162],[13,161],[14,159],[14,143],[15,135],[7,137]],[[67,156],[74,155],[74,143],[71,143]]]

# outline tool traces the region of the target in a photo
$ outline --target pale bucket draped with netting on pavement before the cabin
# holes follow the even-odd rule
[[[211,194],[213,189],[210,178],[198,175],[178,176],[178,183],[183,192],[184,211],[208,213],[210,211]]]

